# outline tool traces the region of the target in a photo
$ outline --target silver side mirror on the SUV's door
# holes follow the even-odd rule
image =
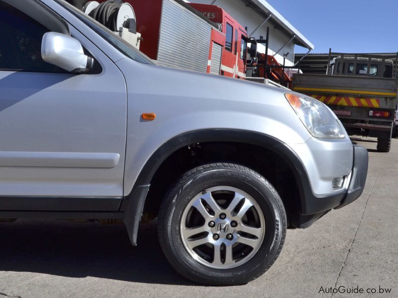
[[[94,66],[94,59],[84,54],[78,40],[56,32],[47,32],[43,35],[41,57],[45,62],[71,73],[87,73]]]

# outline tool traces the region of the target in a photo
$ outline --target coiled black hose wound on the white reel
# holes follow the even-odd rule
[[[94,8],[89,15],[112,31],[119,31],[116,26],[117,13],[123,4],[121,0],[107,0]]]

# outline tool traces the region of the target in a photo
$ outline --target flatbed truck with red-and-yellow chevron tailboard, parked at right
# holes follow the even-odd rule
[[[349,135],[376,137],[377,150],[389,152],[398,103],[394,62],[375,55],[333,54],[339,56],[329,61],[327,74],[294,74],[293,90],[328,105]]]

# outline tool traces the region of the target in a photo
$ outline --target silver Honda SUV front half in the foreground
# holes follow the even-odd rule
[[[63,0],[0,0],[0,218],[157,216],[192,281],[263,274],[288,227],[362,193],[366,149],[311,97],[154,65]]]

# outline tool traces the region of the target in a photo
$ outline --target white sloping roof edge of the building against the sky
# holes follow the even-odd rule
[[[274,7],[271,6],[266,0],[247,0],[261,8],[267,15],[272,14],[272,19],[278,23],[282,28],[292,35],[296,35],[294,42],[305,48],[314,49],[314,45],[304,37],[291,23],[289,23]]]

